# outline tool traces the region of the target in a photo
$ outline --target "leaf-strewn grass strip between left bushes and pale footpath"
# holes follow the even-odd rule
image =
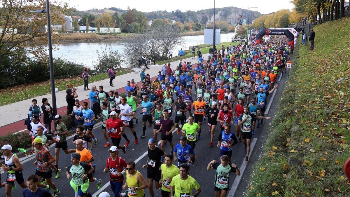
[[[118,69],[116,70],[116,75],[123,75],[131,73],[131,69]],[[89,83],[108,79],[108,74],[98,74],[91,76]],[[67,89],[67,84],[73,84],[73,86],[81,86],[84,84],[83,79],[80,76],[70,77],[68,79],[57,79],[55,80],[55,87],[58,88],[58,91]],[[38,83],[30,83],[26,85],[14,86],[7,89],[2,89],[0,91],[0,106],[23,101],[37,96],[42,96],[45,94],[51,93],[51,84],[50,81],[43,81]],[[41,103],[41,101],[38,101]],[[30,103],[29,103],[30,104]]]

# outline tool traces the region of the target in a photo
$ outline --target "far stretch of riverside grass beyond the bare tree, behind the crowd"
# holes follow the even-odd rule
[[[215,46],[216,46],[217,49],[221,49],[221,46],[225,45],[225,50],[226,50],[227,46],[229,46],[230,44],[232,46],[234,46],[234,45],[238,45],[239,42],[222,42],[222,43],[220,43],[220,45],[215,45]],[[198,45],[198,46],[201,48],[201,54],[209,53],[209,48],[212,48],[212,45],[208,45],[208,44],[201,44],[201,45]],[[182,59],[186,59],[186,58],[192,56],[192,50],[191,49],[184,50],[183,52],[184,52],[184,55],[182,56]],[[197,58],[197,49],[196,49],[196,54],[195,55],[196,55],[195,57]],[[207,58],[208,57],[204,57],[205,60]],[[174,58],[171,59],[171,60],[156,61],[156,64],[161,65],[161,64],[168,63],[169,61],[171,61],[171,62],[173,62],[173,61],[180,61],[180,56],[174,56]]]

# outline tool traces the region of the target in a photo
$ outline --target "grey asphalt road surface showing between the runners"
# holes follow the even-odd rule
[[[274,102],[271,105],[271,110],[269,111],[270,117],[273,116],[275,113],[275,110],[277,108],[277,103],[279,102],[279,97],[281,95],[282,90],[284,89],[284,82],[286,79],[286,74],[282,75],[281,81],[278,82],[280,85],[278,89],[276,90],[276,95],[274,98]],[[272,98],[273,94],[269,95],[267,97],[267,103],[270,102],[270,99]],[[142,115],[139,115],[139,111],[141,109],[137,110],[137,115],[139,117],[140,122],[136,125],[135,131],[137,131],[138,137],[142,134]],[[272,115],[271,115],[272,114]],[[188,117],[188,113],[186,114]],[[173,114],[173,118],[175,115]],[[232,183],[235,182],[235,179],[241,179],[241,183],[238,186],[237,191],[230,191],[230,195],[235,194],[235,196],[244,196],[244,191],[246,191],[246,187],[248,184],[250,172],[252,166],[257,162],[259,154],[261,153],[261,144],[266,141],[266,134],[268,132],[268,125],[269,122],[272,120],[264,120],[264,124],[260,126],[260,128],[255,128],[255,135],[253,135],[253,138],[257,138],[255,141],[257,144],[255,144],[255,149],[251,150],[252,155],[250,156],[250,161],[246,164],[246,172],[241,175],[241,176],[236,176],[235,174],[231,174],[230,176],[230,188],[234,189],[235,187],[232,186]],[[196,163],[190,167],[190,176],[194,177],[197,182],[201,185],[202,192],[200,196],[214,196],[214,178],[215,178],[215,170],[212,171],[207,171],[207,165],[210,161],[213,159],[216,159],[219,161],[219,149],[216,147],[217,143],[217,134],[219,133],[219,126],[217,127],[218,130],[216,131],[216,135],[214,138],[214,145],[212,148],[209,147],[209,142],[210,142],[210,133],[208,126],[206,122],[204,122],[204,127],[202,127],[202,134],[201,134],[201,140],[197,142],[196,148],[195,148],[195,155],[196,155]],[[148,123],[147,123],[148,124]],[[235,128],[234,125],[232,125],[232,128]],[[234,130],[234,129],[233,129]],[[232,130],[232,131],[233,131]],[[106,165],[106,159],[109,157],[109,148],[104,148],[105,145],[105,140],[103,138],[102,134],[102,127],[99,124],[98,126],[95,126],[93,129],[93,133],[97,138],[99,139],[99,142],[96,146],[94,146],[92,155],[94,156],[95,161],[92,162],[92,164],[96,164],[96,173],[94,174],[94,177],[98,179],[102,179],[102,189],[100,189],[97,192],[97,186],[95,183],[91,183],[89,187],[89,192],[92,194],[95,193],[97,196],[98,193],[103,191],[107,191],[111,194],[112,196],[112,190],[110,186],[105,185],[109,183],[109,173],[104,174],[103,169],[105,168]],[[235,133],[235,132],[234,132]],[[121,151],[119,153],[119,156],[124,158],[126,161],[138,161],[136,163],[136,168],[146,177],[146,168],[142,169],[142,165],[146,163],[147,161],[147,156],[146,156],[146,151],[147,151],[147,140],[148,138],[151,138],[153,136],[153,127],[147,127],[146,130],[146,137],[145,138],[140,138],[139,144],[134,144],[133,143],[133,135],[131,134],[129,129],[126,129],[126,135],[128,138],[131,140],[130,145],[127,147],[127,152],[124,155]],[[180,134],[173,133],[173,143],[177,144],[179,143],[179,138]],[[71,136],[72,137],[72,136]],[[160,137],[160,135],[158,136]],[[262,138],[262,139],[260,139]],[[72,138],[68,138],[68,148],[69,149],[75,149],[75,146],[71,143]],[[125,139],[122,138],[120,144],[125,144]],[[166,147],[166,152],[170,152],[170,146]],[[54,147],[50,147],[50,150],[52,150],[52,154],[54,154]],[[243,159],[245,157],[245,151],[244,151],[244,144],[243,143],[238,143],[233,147],[233,153],[232,153],[232,163],[235,163],[238,165],[239,168],[241,168],[242,163],[244,162]],[[33,165],[33,162],[35,161],[35,157],[25,157],[21,158],[22,161],[22,166],[23,166],[23,177],[26,179],[30,174],[34,174],[36,166]],[[54,177],[52,178],[54,183],[56,184],[57,188],[61,191],[61,194],[59,196],[63,197],[72,197],[74,196],[74,191],[69,185],[69,180],[65,176],[65,168],[70,164],[70,155],[65,155],[64,152],[61,150],[60,152],[60,157],[59,157],[59,168],[62,169],[61,175],[58,179],[55,179]],[[175,162],[174,162],[175,164]],[[243,172],[241,172],[243,173]],[[52,174],[54,176],[54,173]],[[5,181],[6,174],[2,175],[2,181]],[[238,180],[237,180],[238,181]],[[236,183],[237,183],[236,181]],[[22,196],[22,189],[20,186],[16,183],[17,188],[15,191],[12,191],[12,196]],[[155,189],[154,189],[155,190]],[[51,192],[53,192],[51,190]],[[124,190],[123,190],[124,192]],[[0,193],[5,193],[5,188],[0,188]],[[158,191],[154,191],[155,196],[160,196],[161,190],[159,189]],[[149,196],[148,189],[145,190],[146,196]]]

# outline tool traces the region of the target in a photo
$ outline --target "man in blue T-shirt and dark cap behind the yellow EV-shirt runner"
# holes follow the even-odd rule
[[[180,168],[180,165],[187,163],[190,165],[194,163],[195,152],[190,145],[187,144],[187,137],[180,137],[180,144],[176,144],[174,148],[174,161],[177,161],[177,167]]]

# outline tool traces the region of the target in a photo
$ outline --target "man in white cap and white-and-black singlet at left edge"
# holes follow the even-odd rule
[[[12,147],[9,144],[3,145],[0,148],[2,150],[3,155],[5,156],[5,167],[2,168],[4,172],[7,172],[6,184],[0,187],[5,186],[5,194],[6,196],[11,196],[11,190],[15,190],[15,181],[22,187],[26,188],[27,184],[24,182],[23,174],[22,174],[22,164],[19,161],[16,154],[12,153]],[[1,181],[1,180],[0,180]]]

